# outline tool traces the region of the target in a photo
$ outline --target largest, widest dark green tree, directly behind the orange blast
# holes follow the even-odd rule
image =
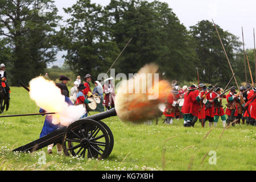
[[[105,9],[118,48],[133,38],[115,65],[118,72],[136,73],[154,62],[170,79],[191,80],[189,73],[196,74],[189,68],[197,59],[192,38],[167,3],[112,0]]]

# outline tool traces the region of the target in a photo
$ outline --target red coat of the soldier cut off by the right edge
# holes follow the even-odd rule
[[[254,97],[256,97],[256,94],[253,90],[251,90],[247,96],[248,101],[246,102],[245,106],[249,106],[247,107],[248,109],[245,110],[245,114],[243,114],[244,117],[251,117],[256,119],[256,98],[254,99]],[[248,114],[248,111],[250,115]]]

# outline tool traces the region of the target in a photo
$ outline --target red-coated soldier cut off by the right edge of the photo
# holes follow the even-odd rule
[[[245,114],[243,115],[246,117],[246,123],[247,125],[255,125],[255,119],[256,119],[256,88],[253,87],[253,90],[251,90],[248,93],[247,96],[247,102],[245,104]]]

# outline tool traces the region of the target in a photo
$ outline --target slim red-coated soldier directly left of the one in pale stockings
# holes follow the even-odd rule
[[[212,89],[213,86],[209,85],[208,86],[208,90]],[[217,94],[215,92],[210,91],[210,93],[207,94],[206,98],[208,101],[212,101],[215,97],[217,96]],[[205,105],[205,122],[209,121],[209,127],[212,127],[213,121],[214,121],[214,102],[211,103],[209,102],[207,105]]]

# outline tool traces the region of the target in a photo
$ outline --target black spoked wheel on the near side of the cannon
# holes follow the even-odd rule
[[[105,127],[92,119],[80,119],[69,125],[63,135],[65,155],[104,159],[109,153],[109,135]]]

